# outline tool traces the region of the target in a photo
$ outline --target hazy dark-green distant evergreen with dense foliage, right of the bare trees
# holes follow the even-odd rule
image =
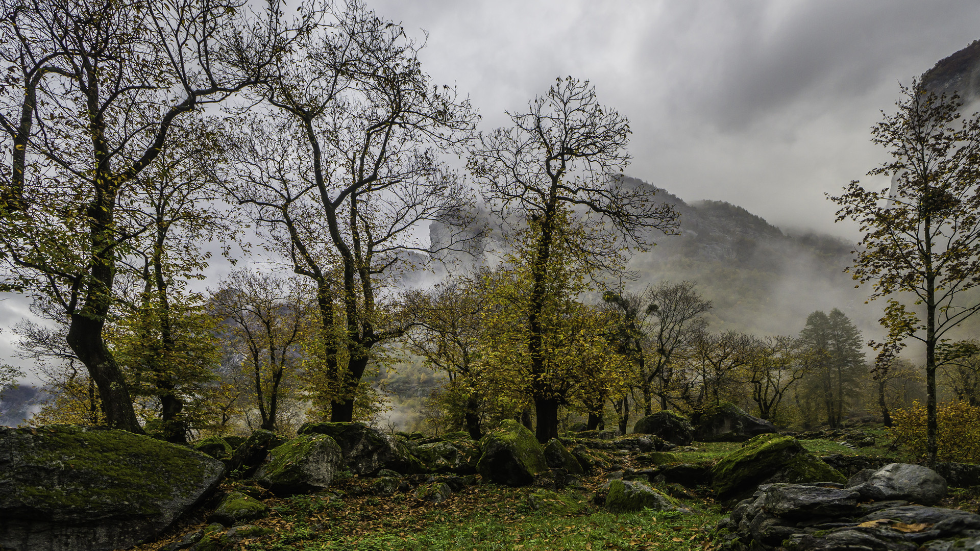
[[[829,316],[821,311],[810,314],[800,339],[809,364],[804,393],[822,404],[827,425],[840,426],[846,407],[858,395],[858,379],[867,372],[860,331],[835,308]]]

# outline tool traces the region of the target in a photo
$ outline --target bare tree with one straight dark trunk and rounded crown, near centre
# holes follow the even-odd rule
[[[528,369],[539,382],[532,390],[536,436],[558,435],[559,400],[540,375],[547,351],[542,319],[556,271],[556,251],[585,271],[622,274],[627,247],[652,245],[651,231],[673,231],[677,214],[655,204],[640,187],[620,185],[629,160],[629,125],[602,106],[588,81],[559,78],[524,113],[508,113],[510,128],[481,134],[469,170],[498,211],[516,213],[506,237],[530,273],[526,304]]]

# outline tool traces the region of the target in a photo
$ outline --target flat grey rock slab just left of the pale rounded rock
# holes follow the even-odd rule
[[[846,517],[858,512],[860,494],[850,489],[802,484],[772,484],[765,492],[765,510],[786,519]]]

